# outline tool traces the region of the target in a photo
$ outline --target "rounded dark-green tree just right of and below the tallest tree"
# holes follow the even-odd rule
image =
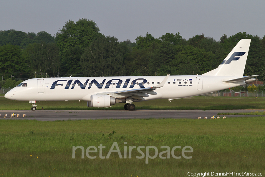
[[[114,37],[99,37],[81,56],[82,72],[86,76],[122,75],[122,49]]]

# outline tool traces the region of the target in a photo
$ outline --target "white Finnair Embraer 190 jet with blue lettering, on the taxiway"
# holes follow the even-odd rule
[[[190,76],[115,76],[61,77],[28,79],[12,88],[5,98],[32,103],[37,101],[87,101],[89,107],[110,107],[125,103],[133,111],[133,102],[167,98],[171,100],[212,93],[255,81],[243,76],[251,39],[242,39],[218,68]]]

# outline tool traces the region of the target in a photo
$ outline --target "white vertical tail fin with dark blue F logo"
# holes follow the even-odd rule
[[[204,76],[243,76],[251,39],[241,39],[218,68]]]

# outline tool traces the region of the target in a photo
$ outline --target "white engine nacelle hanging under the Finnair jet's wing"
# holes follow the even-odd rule
[[[87,106],[94,108],[104,108],[116,104],[116,98],[110,97],[110,95],[91,95],[90,99],[91,101],[87,101]]]

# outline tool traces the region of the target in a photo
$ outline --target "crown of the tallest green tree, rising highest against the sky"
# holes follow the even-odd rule
[[[103,36],[95,21],[79,19],[74,22],[69,20],[55,35],[55,41],[60,48],[62,57],[70,47],[78,46],[81,49],[89,46],[95,39]]]

